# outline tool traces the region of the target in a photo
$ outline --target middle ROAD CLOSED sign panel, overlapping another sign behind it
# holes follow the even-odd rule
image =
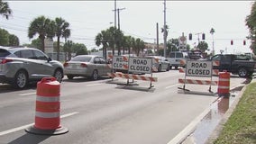
[[[151,58],[129,58],[129,72],[151,74]]]

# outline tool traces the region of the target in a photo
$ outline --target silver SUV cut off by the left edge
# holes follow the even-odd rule
[[[46,76],[54,76],[61,82],[63,65],[39,49],[0,46],[0,83],[24,88]]]

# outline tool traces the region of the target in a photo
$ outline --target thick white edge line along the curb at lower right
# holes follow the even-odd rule
[[[193,130],[196,129],[197,124],[206,116],[208,112],[210,112],[211,109],[207,108],[204,112],[202,112],[200,115],[197,116],[193,121],[191,121],[187,127],[183,130],[181,130],[176,137],[171,139],[167,144],[176,144],[180,143],[182,140],[186,139],[187,135],[189,135]]]

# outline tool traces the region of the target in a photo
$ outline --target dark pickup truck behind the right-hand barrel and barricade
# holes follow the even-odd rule
[[[213,67],[214,69],[219,69],[220,72],[226,70],[240,77],[251,76],[256,71],[256,61],[244,55],[217,54],[211,60],[220,62],[219,66]]]

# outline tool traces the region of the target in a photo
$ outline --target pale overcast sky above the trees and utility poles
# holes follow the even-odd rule
[[[6,1],[6,0],[5,0]],[[69,40],[83,43],[87,49],[99,49],[95,44],[96,35],[114,26],[114,0],[105,1],[6,1],[13,10],[13,15],[6,20],[0,17],[0,28],[16,35],[21,44],[31,43],[28,28],[32,21],[44,15],[52,20],[61,17],[70,24]],[[210,51],[215,53],[251,52],[246,16],[251,14],[253,1],[166,1],[166,24],[169,26],[167,40],[178,39],[182,33],[192,40],[187,40],[190,47],[202,40]],[[164,0],[158,1],[116,1],[119,11],[120,29],[124,35],[140,38],[145,42],[156,42],[156,25],[164,25]],[[118,19],[116,14],[116,26]],[[211,28],[215,33],[210,33]],[[160,30],[159,30],[160,31]],[[199,34],[198,34],[199,33]],[[199,37],[198,37],[199,36]],[[55,39],[54,39],[55,40]],[[231,45],[233,40],[233,45]],[[243,45],[246,40],[246,45]],[[64,39],[63,39],[64,41]],[[159,32],[159,42],[163,43],[163,33]]]

